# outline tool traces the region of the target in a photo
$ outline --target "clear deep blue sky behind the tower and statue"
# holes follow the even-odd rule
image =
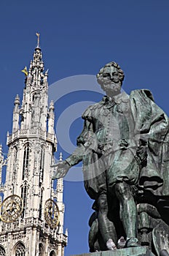
[[[7,152],[6,134],[12,129],[15,95],[23,95],[24,75],[36,46],[36,31],[49,84],[73,75],[95,75],[109,61],[117,61],[125,72],[123,89],[150,89],[160,107],[168,110],[169,69],[168,0],[37,0],[0,3],[0,142]],[[56,88],[58,93],[62,88]],[[96,89],[97,91],[97,89]],[[65,95],[55,102],[57,118],[64,109],[82,101],[99,101],[101,95],[83,91]],[[72,119],[70,140],[82,129]],[[68,153],[63,151],[63,158]],[[71,170],[70,170],[71,172]],[[88,252],[88,219],[93,201],[82,182],[65,181],[66,255]]]

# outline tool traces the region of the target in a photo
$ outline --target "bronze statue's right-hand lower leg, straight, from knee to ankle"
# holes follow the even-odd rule
[[[119,199],[120,218],[127,238],[136,238],[137,234],[137,209],[130,190],[130,185],[125,182],[115,184],[115,193]]]

